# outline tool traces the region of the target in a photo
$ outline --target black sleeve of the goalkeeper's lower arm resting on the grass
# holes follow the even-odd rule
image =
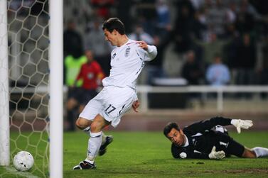
[[[171,152],[176,159],[209,159],[207,153],[193,150],[191,147],[179,147],[174,144],[171,146]]]

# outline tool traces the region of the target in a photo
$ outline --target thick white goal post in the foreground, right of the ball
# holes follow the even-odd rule
[[[63,177],[63,0],[49,1],[50,177]]]

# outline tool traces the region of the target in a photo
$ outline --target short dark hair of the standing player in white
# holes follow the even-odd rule
[[[107,21],[104,21],[102,30],[104,29],[108,30],[109,33],[112,33],[113,30],[117,30],[121,35],[125,34],[124,23],[117,17],[109,18]]]

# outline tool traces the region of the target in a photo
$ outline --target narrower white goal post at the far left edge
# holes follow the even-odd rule
[[[6,0],[0,1],[0,165],[9,166],[9,65]]]

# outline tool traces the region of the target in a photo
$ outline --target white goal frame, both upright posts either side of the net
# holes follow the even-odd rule
[[[0,165],[10,165],[7,1],[0,0]],[[50,177],[63,177],[63,0],[50,11]]]

